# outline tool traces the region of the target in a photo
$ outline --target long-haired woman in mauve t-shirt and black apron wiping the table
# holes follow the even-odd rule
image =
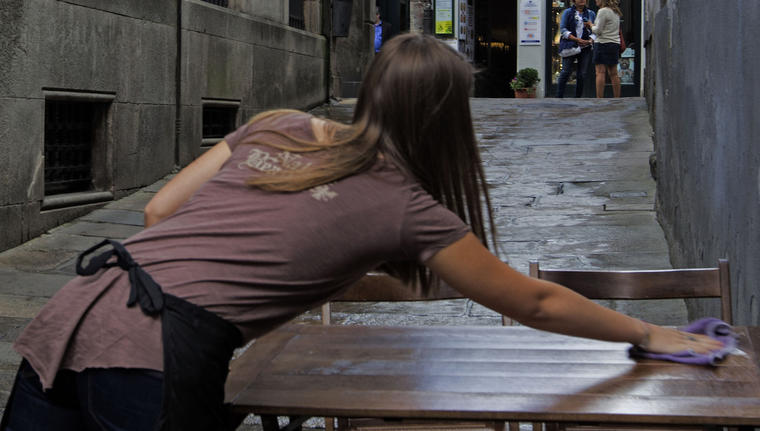
[[[146,206],[146,229],[81,255],[80,277],[18,337],[5,429],[235,429],[223,405],[233,349],[377,268],[423,293],[442,280],[542,330],[657,353],[720,348],[489,251],[473,74],[432,36],[394,37],[372,60],[350,125],[265,112],[182,169]]]

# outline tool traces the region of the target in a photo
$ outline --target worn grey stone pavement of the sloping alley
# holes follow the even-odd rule
[[[351,108],[346,100],[315,112],[348,119]],[[473,99],[472,111],[505,261],[525,273],[530,260],[547,268],[670,267],[654,212],[652,131],[643,99]],[[140,231],[143,207],[165,182],[0,253],[2,405],[20,359],[11,349],[20,330],[71,278],[80,251]],[[604,303],[655,323],[686,322],[682,301]],[[339,324],[500,324],[498,314],[468,300],[333,310]],[[316,319],[306,313],[298,320]],[[252,418],[246,422],[240,430],[258,428]]]

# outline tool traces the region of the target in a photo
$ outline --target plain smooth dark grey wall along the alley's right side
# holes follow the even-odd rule
[[[646,15],[658,214],[673,266],[727,257],[734,320],[760,324],[760,8],[663,0]],[[689,302],[695,316],[719,315]]]

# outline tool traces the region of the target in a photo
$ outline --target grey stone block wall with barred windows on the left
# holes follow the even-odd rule
[[[177,77],[176,1],[0,2],[0,250],[188,163],[203,151],[209,100],[237,104],[239,124],[326,99],[325,38],[288,27],[280,0],[231,3],[238,9],[182,0]],[[54,99],[96,103],[103,148],[93,162],[96,190],[51,200],[45,106]]]

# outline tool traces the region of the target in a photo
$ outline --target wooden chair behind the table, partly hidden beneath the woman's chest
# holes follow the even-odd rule
[[[385,274],[371,273],[343,292],[332,302],[399,302],[399,301],[432,301],[445,299],[462,299],[462,294],[453,288],[442,284],[438,292],[423,297],[405,286],[398,279]],[[321,309],[323,325],[330,325],[331,303],[326,303]],[[502,318],[502,321],[505,320]],[[339,431],[504,431],[504,422],[447,422],[447,421],[380,421],[374,419],[350,418],[338,419]],[[335,431],[333,418],[325,418],[325,431]]]

